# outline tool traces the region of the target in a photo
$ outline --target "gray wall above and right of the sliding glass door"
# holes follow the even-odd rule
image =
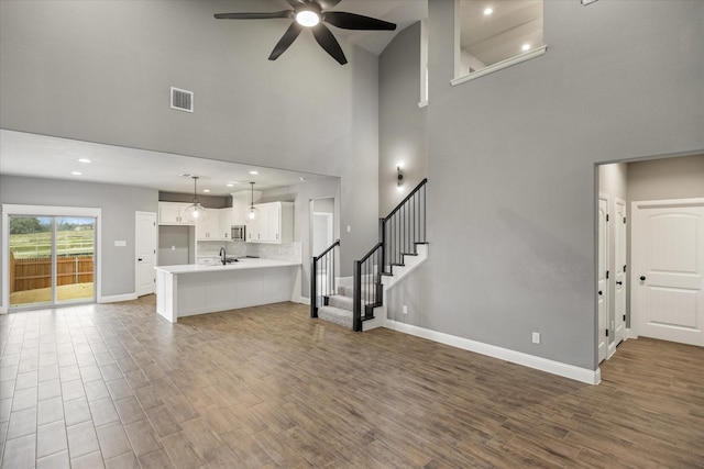
[[[134,293],[134,212],[157,213],[156,190],[0,176],[0,203],[102,209],[100,292],[103,297]],[[127,246],[116,247],[116,241],[125,241]]]

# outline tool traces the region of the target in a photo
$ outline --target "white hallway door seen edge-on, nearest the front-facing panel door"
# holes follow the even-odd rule
[[[626,202],[615,201],[615,239],[614,239],[614,331],[613,348],[626,338]],[[609,350],[613,351],[613,350]]]

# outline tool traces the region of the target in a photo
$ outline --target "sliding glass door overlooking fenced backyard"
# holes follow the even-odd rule
[[[11,309],[95,301],[96,219],[9,216]]]

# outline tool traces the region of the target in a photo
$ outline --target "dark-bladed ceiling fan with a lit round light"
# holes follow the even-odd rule
[[[396,29],[396,24],[375,18],[344,11],[328,11],[328,9],[340,3],[340,0],[286,0],[286,2],[293,7],[293,10],[271,13],[218,13],[215,16],[218,20],[268,20],[272,18],[294,20],[278,43],[276,43],[276,46],[274,46],[274,51],[268,56],[270,60],[276,60],[293,44],[304,29],[310,29],[318,44],[332,58],[338,60],[340,65],[346,64],[348,59],[340,47],[340,43],[322,22],[343,30],[394,31]]]

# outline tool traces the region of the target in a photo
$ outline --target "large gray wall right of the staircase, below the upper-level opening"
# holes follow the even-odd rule
[[[391,316],[596,369],[594,165],[704,148],[704,2],[544,2],[544,56],[457,87],[452,24],[429,2],[430,257]]]

